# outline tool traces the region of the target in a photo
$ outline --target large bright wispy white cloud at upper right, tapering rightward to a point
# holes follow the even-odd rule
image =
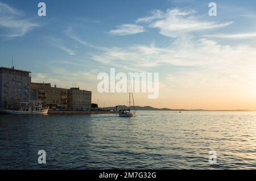
[[[218,23],[201,20],[196,11],[168,9],[166,12],[155,10],[150,16],[137,19],[137,23],[147,23],[150,28],[158,28],[165,36],[176,37],[192,31],[211,30],[228,26],[232,22]]]

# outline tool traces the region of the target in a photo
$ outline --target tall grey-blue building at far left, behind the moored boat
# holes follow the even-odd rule
[[[18,102],[31,100],[31,72],[0,68],[0,107],[13,108]]]

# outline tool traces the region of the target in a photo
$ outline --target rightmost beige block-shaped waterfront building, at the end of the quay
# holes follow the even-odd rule
[[[71,110],[91,110],[92,91],[73,87],[68,90],[68,108]]]

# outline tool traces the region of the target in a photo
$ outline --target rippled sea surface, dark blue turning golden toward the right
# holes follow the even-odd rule
[[[256,112],[0,115],[0,169],[256,169],[255,121]]]

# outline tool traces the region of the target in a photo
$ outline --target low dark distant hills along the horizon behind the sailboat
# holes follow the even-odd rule
[[[118,106],[119,110],[127,110],[129,107],[121,105]],[[105,107],[106,110],[114,110],[115,107]],[[133,109],[133,107],[131,107],[131,109]],[[197,110],[184,110],[184,109],[180,109],[180,110],[172,110],[169,108],[155,108],[155,107],[151,107],[151,106],[135,106],[135,110],[137,111],[249,111],[249,110],[203,110],[203,109],[197,109]]]

